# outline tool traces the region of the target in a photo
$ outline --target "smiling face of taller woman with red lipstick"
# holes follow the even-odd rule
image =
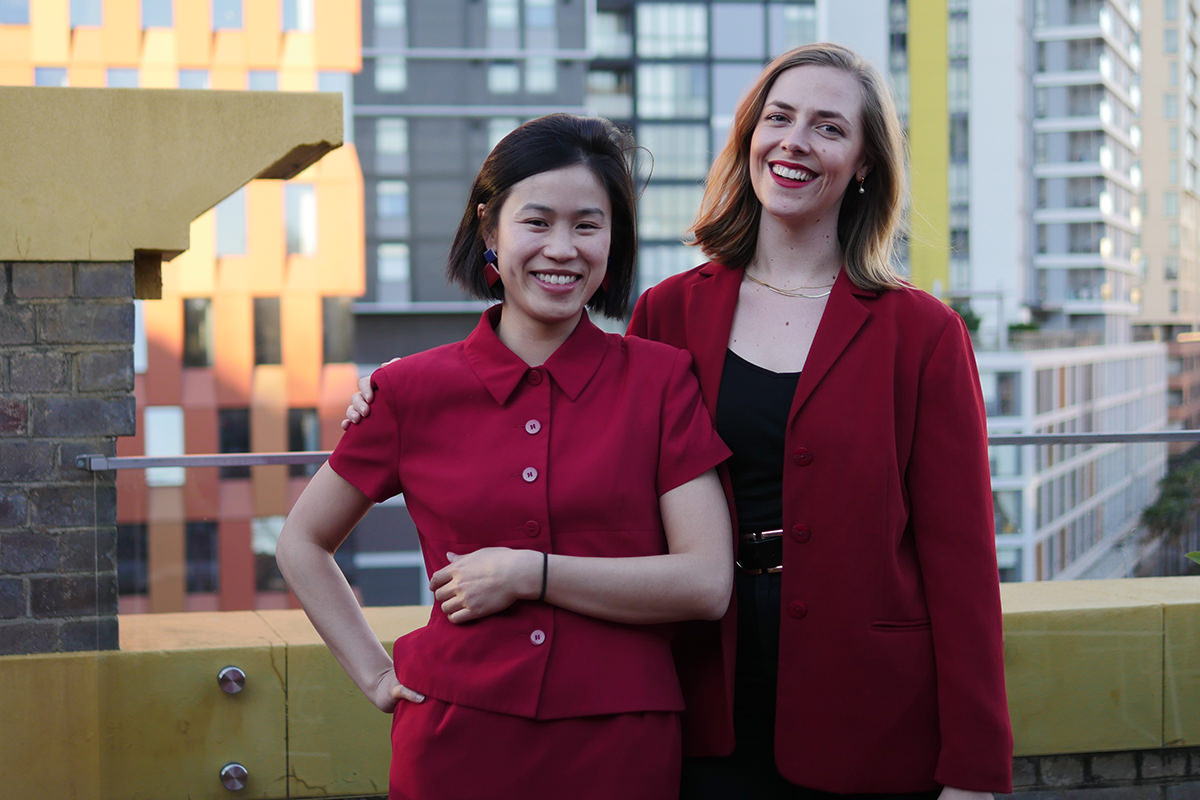
[[[750,139],[750,182],[763,221],[828,225],[836,234],[842,196],[869,166],[863,157],[862,94],[854,76],[804,65],[779,74]]]

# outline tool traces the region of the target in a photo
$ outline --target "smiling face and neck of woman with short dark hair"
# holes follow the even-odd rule
[[[504,283],[500,338],[565,339],[608,264],[612,204],[604,185],[574,164],[515,184],[494,217],[479,211]]]

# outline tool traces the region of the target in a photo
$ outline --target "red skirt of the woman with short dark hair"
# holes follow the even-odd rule
[[[680,752],[673,711],[528,720],[401,700],[388,799],[662,800],[679,795]]]

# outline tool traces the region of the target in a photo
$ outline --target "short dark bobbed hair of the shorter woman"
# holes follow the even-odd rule
[[[500,139],[484,161],[467,197],[446,275],[475,297],[504,299],[504,284],[487,285],[484,275],[484,230],[512,187],[524,179],[583,164],[604,186],[612,205],[607,287],[596,289],[588,305],[601,314],[622,318],[629,306],[637,261],[637,210],[634,192],[632,138],[606,119],[550,114],[520,126]],[[476,209],[484,204],[484,219]]]

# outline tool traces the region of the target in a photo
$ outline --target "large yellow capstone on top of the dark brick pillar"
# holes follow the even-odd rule
[[[336,92],[0,86],[0,261],[170,259],[256,178],[342,144]]]

